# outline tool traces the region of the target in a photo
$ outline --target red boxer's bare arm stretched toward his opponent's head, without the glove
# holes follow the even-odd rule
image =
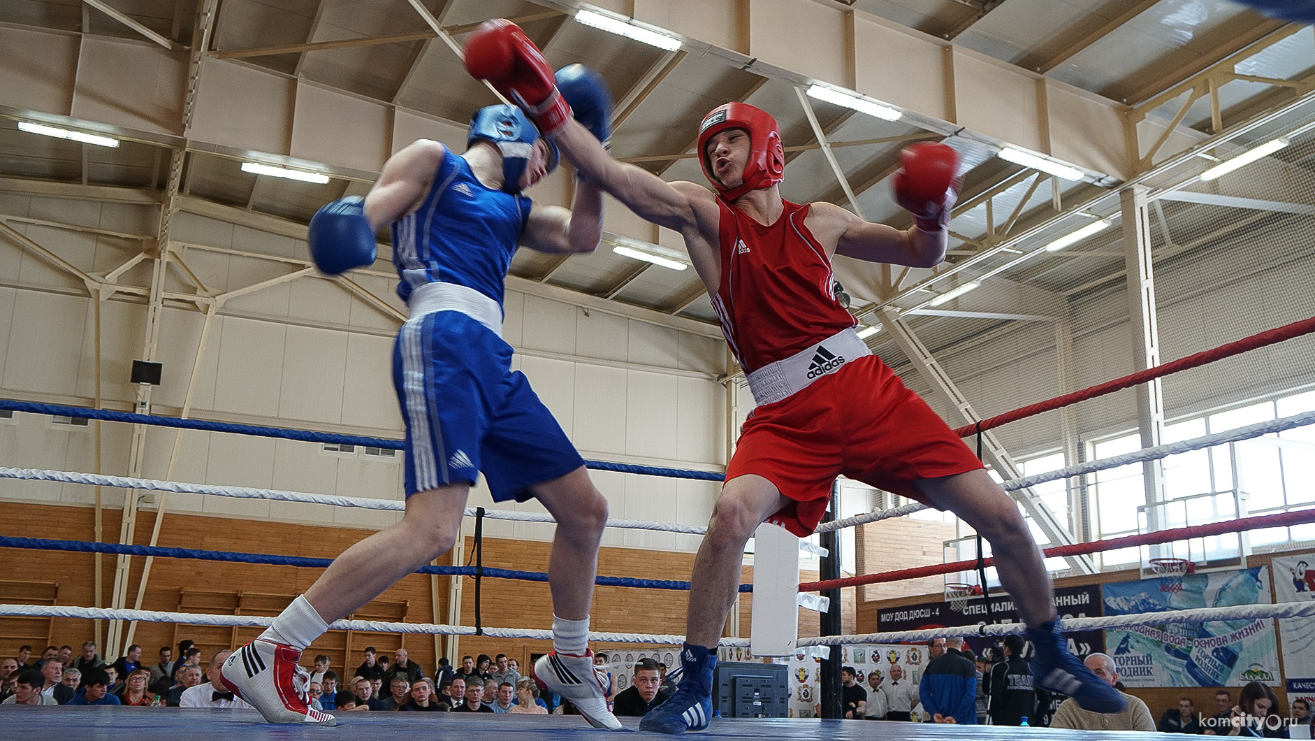
[[[707,188],[668,183],[647,170],[617,162],[579,121],[568,120],[558,129],[554,141],[585,179],[611,193],[640,218],[659,226],[686,233],[697,226],[697,192],[707,196],[709,201],[713,200]]]

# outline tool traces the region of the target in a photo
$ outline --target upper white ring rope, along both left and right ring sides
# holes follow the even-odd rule
[[[1282,417],[1266,422],[1257,422],[1237,429],[1218,432],[1202,437],[1194,437],[1191,440],[1184,440],[1181,442],[1170,442],[1166,445],[1159,445],[1156,447],[1145,447],[1143,450],[1136,450],[1134,453],[1127,453],[1123,455],[1101,458],[1099,461],[1089,461],[1086,463],[1078,463],[1076,466],[1068,466],[1055,471],[1047,471],[1044,474],[1011,479],[1005,482],[1002,486],[1005,487],[1006,491],[1015,491],[1019,488],[1027,488],[1030,486],[1036,486],[1039,483],[1052,482],[1056,479],[1090,474],[1093,471],[1103,471],[1107,469],[1116,469],[1119,466],[1127,466],[1130,463],[1156,461],[1159,458],[1166,458],[1169,455],[1176,455],[1180,453],[1189,453],[1191,450],[1211,447],[1224,442],[1237,442],[1241,440],[1249,440],[1253,437],[1260,437],[1262,434],[1283,432],[1287,429],[1304,426],[1308,424],[1315,424],[1315,412],[1303,412],[1301,415],[1293,415],[1290,417]],[[330,494],[310,494],[301,491],[281,491],[281,490],[251,488],[239,486],[195,484],[195,483],[181,483],[181,482],[166,482],[159,479],[139,479],[132,476],[82,474],[78,471],[0,467],[0,478],[64,482],[64,483],[91,484],[91,486],[110,486],[117,488],[141,488],[149,491],[174,491],[181,494],[205,494],[213,496],[231,496],[239,499],[272,499],[280,501],[304,501],[308,504],[329,504],[331,507],[359,507],[363,509],[402,511],[406,508],[406,503],[397,499],[368,499],[362,496],[338,496]],[[821,525],[818,525],[817,532],[827,533],[831,530],[838,530],[840,528],[849,528],[865,523],[876,523],[880,520],[889,520],[892,517],[903,517],[905,515],[919,512],[927,508],[928,507],[926,504],[910,503],[901,507],[896,507],[894,509],[882,509],[881,512],[869,512],[867,515],[846,517],[844,520],[822,523]],[[473,507],[466,508],[466,516],[473,517],[475,508]],[[518,512],[514,509],[485,509],[484,516],[490,520],[514,520],[522,523],[554,521],[551,515],[543,512]],[[654,523],[646,520],[608,520],[606,525],[609,528],[658,530],[665,533],[682,533],[692,536],[701,536],[707,532],[707,528],[702,525],[682,525],[679,523]],[[826,554],[825,549],[813,545],[802,538],[800,542],[805,544],[801,545],[803,550],[807,550],[810,553],[817,553],[818,555]]]

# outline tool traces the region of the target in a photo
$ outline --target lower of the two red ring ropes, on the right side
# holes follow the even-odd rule
[[[1226,520],[1223,523],[1207,523],[1205,525],[1190,525],[1187,528],[1173,528],[1170,530],[1156,530],[1153,533],[1140,533],[1110,538],[1102,541],[1077,542],[1072,545],[1057,545],[1047,548],[1041,553],[1045,555],[1082,555],[1102,550],[1115,550],[1137,545],[1155,545],[1161,542],[1181,541],[1187,538],[1201,538],[1223,533],[1237,533],[1241,530],[1255,530],[1260,528],[1282,528],[1287,525],[1303,525],[1315,523],[1315,508],[1298,509],[1295,512],[1279,512],[1277,515],[1264,515],[1260,517],[1243,517],[1240,520]],[[993,558],[985,559],[985,565],[994,563]],[[953,571],[968,571],[977,567],[977,559],[956,561],[953,563],[932,563],[931,566],[918,566],[917,569],[901,569],[898,571],[882,571],[880,574],[864,574],[861,576],[847,576],[844,579],[828,579],[826,582],[809,582],[800,584],[801,592],[815,592],[819,590],[839,590],[843,587],[857,587],[863,584],[880,584],[885,582],[902,582],[919,576],[935,576],[936,574],[951,574]]]

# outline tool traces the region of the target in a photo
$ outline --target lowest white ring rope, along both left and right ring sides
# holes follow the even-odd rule
[[[254,615],[203,615],[191,612],[159,612],[150,609],[110,609],[100,607],[71,607],[47,604],[0,604],[0,616],[5,617],[72,617],[83,620],[138,620],[143,623],[180,623],[185,625],[238,625],[268,628],[274,617]],[[1069,617],[1060,621],[1060,628],[1074,630],[1107,630],[1111,628],[1135,628],[1168,623],[1214,623],[1220,620],[1252,621],[1274,617],[1315,616],[1315,601],[1285,601],[1278,604],[1241,604],[1236,607],[1203,607],[1195,609],[1172,609],[1165,612],[1140,612],[1134,615],[1110,615],[1105,617]],[[433,623],[384,623],[377,620],[337,620],[329,625],[331,630],[367,630],[379,633],[423,633],[438,636],[475,636],[476,629],[468,625],[435,625]],[[902,644],[927,641],[943,636],[1007,636],[1022,633],[1027,626],[1022,623],[1002,623],[994,625],[931,628],[926,630],[901,630],[892,633],[865,633],[859,636],[821,636],[800,638],[796,646],[836,646],[852,644]],[[551,640],[552,630],[529,628],[484,628],[483,634],[494,638],[534,638]],[[614,644],[659,644],[679,646],[684,636],[646,633],[602,633],[590,632],[590,641]],[[750,646],[750,638],[722,638],[722,646]]]

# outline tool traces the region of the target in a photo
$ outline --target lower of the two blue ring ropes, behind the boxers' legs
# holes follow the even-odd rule
[[[37,550],[72,550],[80,553],[114,553],[121,555],[151,555],[156,558],[196,558],[200,561],[227,561],[234,563],[267,563],[274,566],[299,566],[304,569],[325,569],[333,563],[331,558],[306,558],[301,555],[271,555],[266,553],[238,553],[227,550],[197,550],[192,548],[163,548],[150,545],[122,545],[112,542],[88,541],[59,541],[47,538],[18,538],[0,537],[0,548],[26,548]],[[473,566],[423,566],[416,570],[417,574],[437,574],[441,576],[473,576]],[[542,571],[515,571],[512,569],[493,569],[485,566],[484,576],[497,579],[519,579],[523,582],[547,582],[548,575]],[[600,587],[639,587],[646,590],[677,590],[688,591],[689,582],[672,582],[667,579],[635,579],[633,576],[597,576],[594,584]],[[752,592],[753,584],[740,584],[739,591]]]

